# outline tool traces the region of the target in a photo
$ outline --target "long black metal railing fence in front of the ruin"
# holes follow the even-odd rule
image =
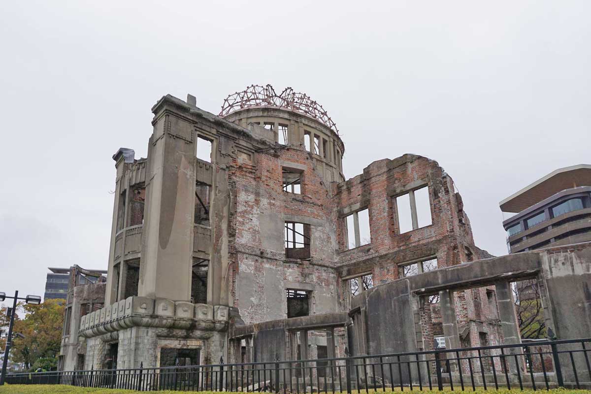
[[[151,390],[340,392],[591,388],[591,338],[322,360],[13,373],[7,383]]]

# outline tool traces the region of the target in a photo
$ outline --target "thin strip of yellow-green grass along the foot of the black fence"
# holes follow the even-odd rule
[[[387,392],[391,392],[391,390],[386,390]],[[400,390],[395,390],[400,391]],[[408,388],[404,390],[410,391]],[[418,392],[417,389],[413,390],[414,392]],[[449,391],[446,389],[445,391]],[[460,392],[461,390],[456,390]],[[466,390],[466,392],[471,392],[472,390]],[[485,392],[482,388],[477,388],[477,392]],[[538,390],[540,393],[545,392],[545,390]],[[369,393],[373,393],[374,390],[369,390]],[[381,390],[378,390],[378,393]],[[506,390],[500,389],[498,391],[492,389],[488,390],[491,393],[499,393],[499,394],[507,394],[507,393],[519,393],[519,390]],[[533,390],[524,390],[524,392],[533,392]],[[128,394],[128,393],[139,393],[139,391],[135,390],[119,390],[119,389],[95,389],[95,388],[83,388],[83,387],[73,387],[73,386],[65,386],[65,385],[4,385],[0,386],[0,394],[83,394],[83,393],[93,393],[93,394]],[[185,392],[178,392],[178,391],[152,391],[152,393],[160,393],[160,394],[178,394],[178,393],[205,393],[205,394],[212,394],[214,392],[211,391],[185,391]],[[330,392],[329,392],[330,393]],[[353,390],[353,394],[357,392]],[[360,394],[365,393],[365,390],[362,390]],[[429,391],[424,390],[422,393],[431,393],[435,394],[438,393],[437,391]],[[591,394],[591,390],[567,390],[567,389],[554,389],[550,390],[548,393],[552,394]],[[215,394],[229,394],[229,392],[215,392]],[[340,394],[340,393],[339,393]]]

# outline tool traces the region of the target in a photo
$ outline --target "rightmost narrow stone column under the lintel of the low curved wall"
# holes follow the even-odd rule
[[[499,306],[499,318],[501,319],[501,329],[503,332],[503,344],[521,343],[519,334],[519,324],[515,316],[515,301],[509,282],[498,282],[495,284],[496,302]],[[505,350],[506,354],[521,353],[519,347],[511,347]],[[507,366],[511,372],[516,371],[515,357],[506,357]]]

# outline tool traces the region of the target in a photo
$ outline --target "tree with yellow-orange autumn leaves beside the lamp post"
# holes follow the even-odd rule
[[[15,320],[14,333],[25,338],[15,338],[11,359],[24,364],[26,369],[54,369],[60,353],[61,331],[64,323],[64,300],[46,299],[40,305],[20,304],[24,318]]]

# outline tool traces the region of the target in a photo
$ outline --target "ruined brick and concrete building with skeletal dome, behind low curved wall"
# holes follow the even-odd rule
[[[217,116],[167,95],[152,112],[148,157],[113,155],[106,306],[79,330],[87,369],[261,360],[265,324],[289,331],[281,357],[347,341],[371,353],[355,301],[368,289],[491,257],[436,161],[381,159],[345,180],[336,125],[302,93],[251,86]],[[419,349],[498,344],[496,289],[423,297]],[[455,305],[452,334],[441,304]]]

